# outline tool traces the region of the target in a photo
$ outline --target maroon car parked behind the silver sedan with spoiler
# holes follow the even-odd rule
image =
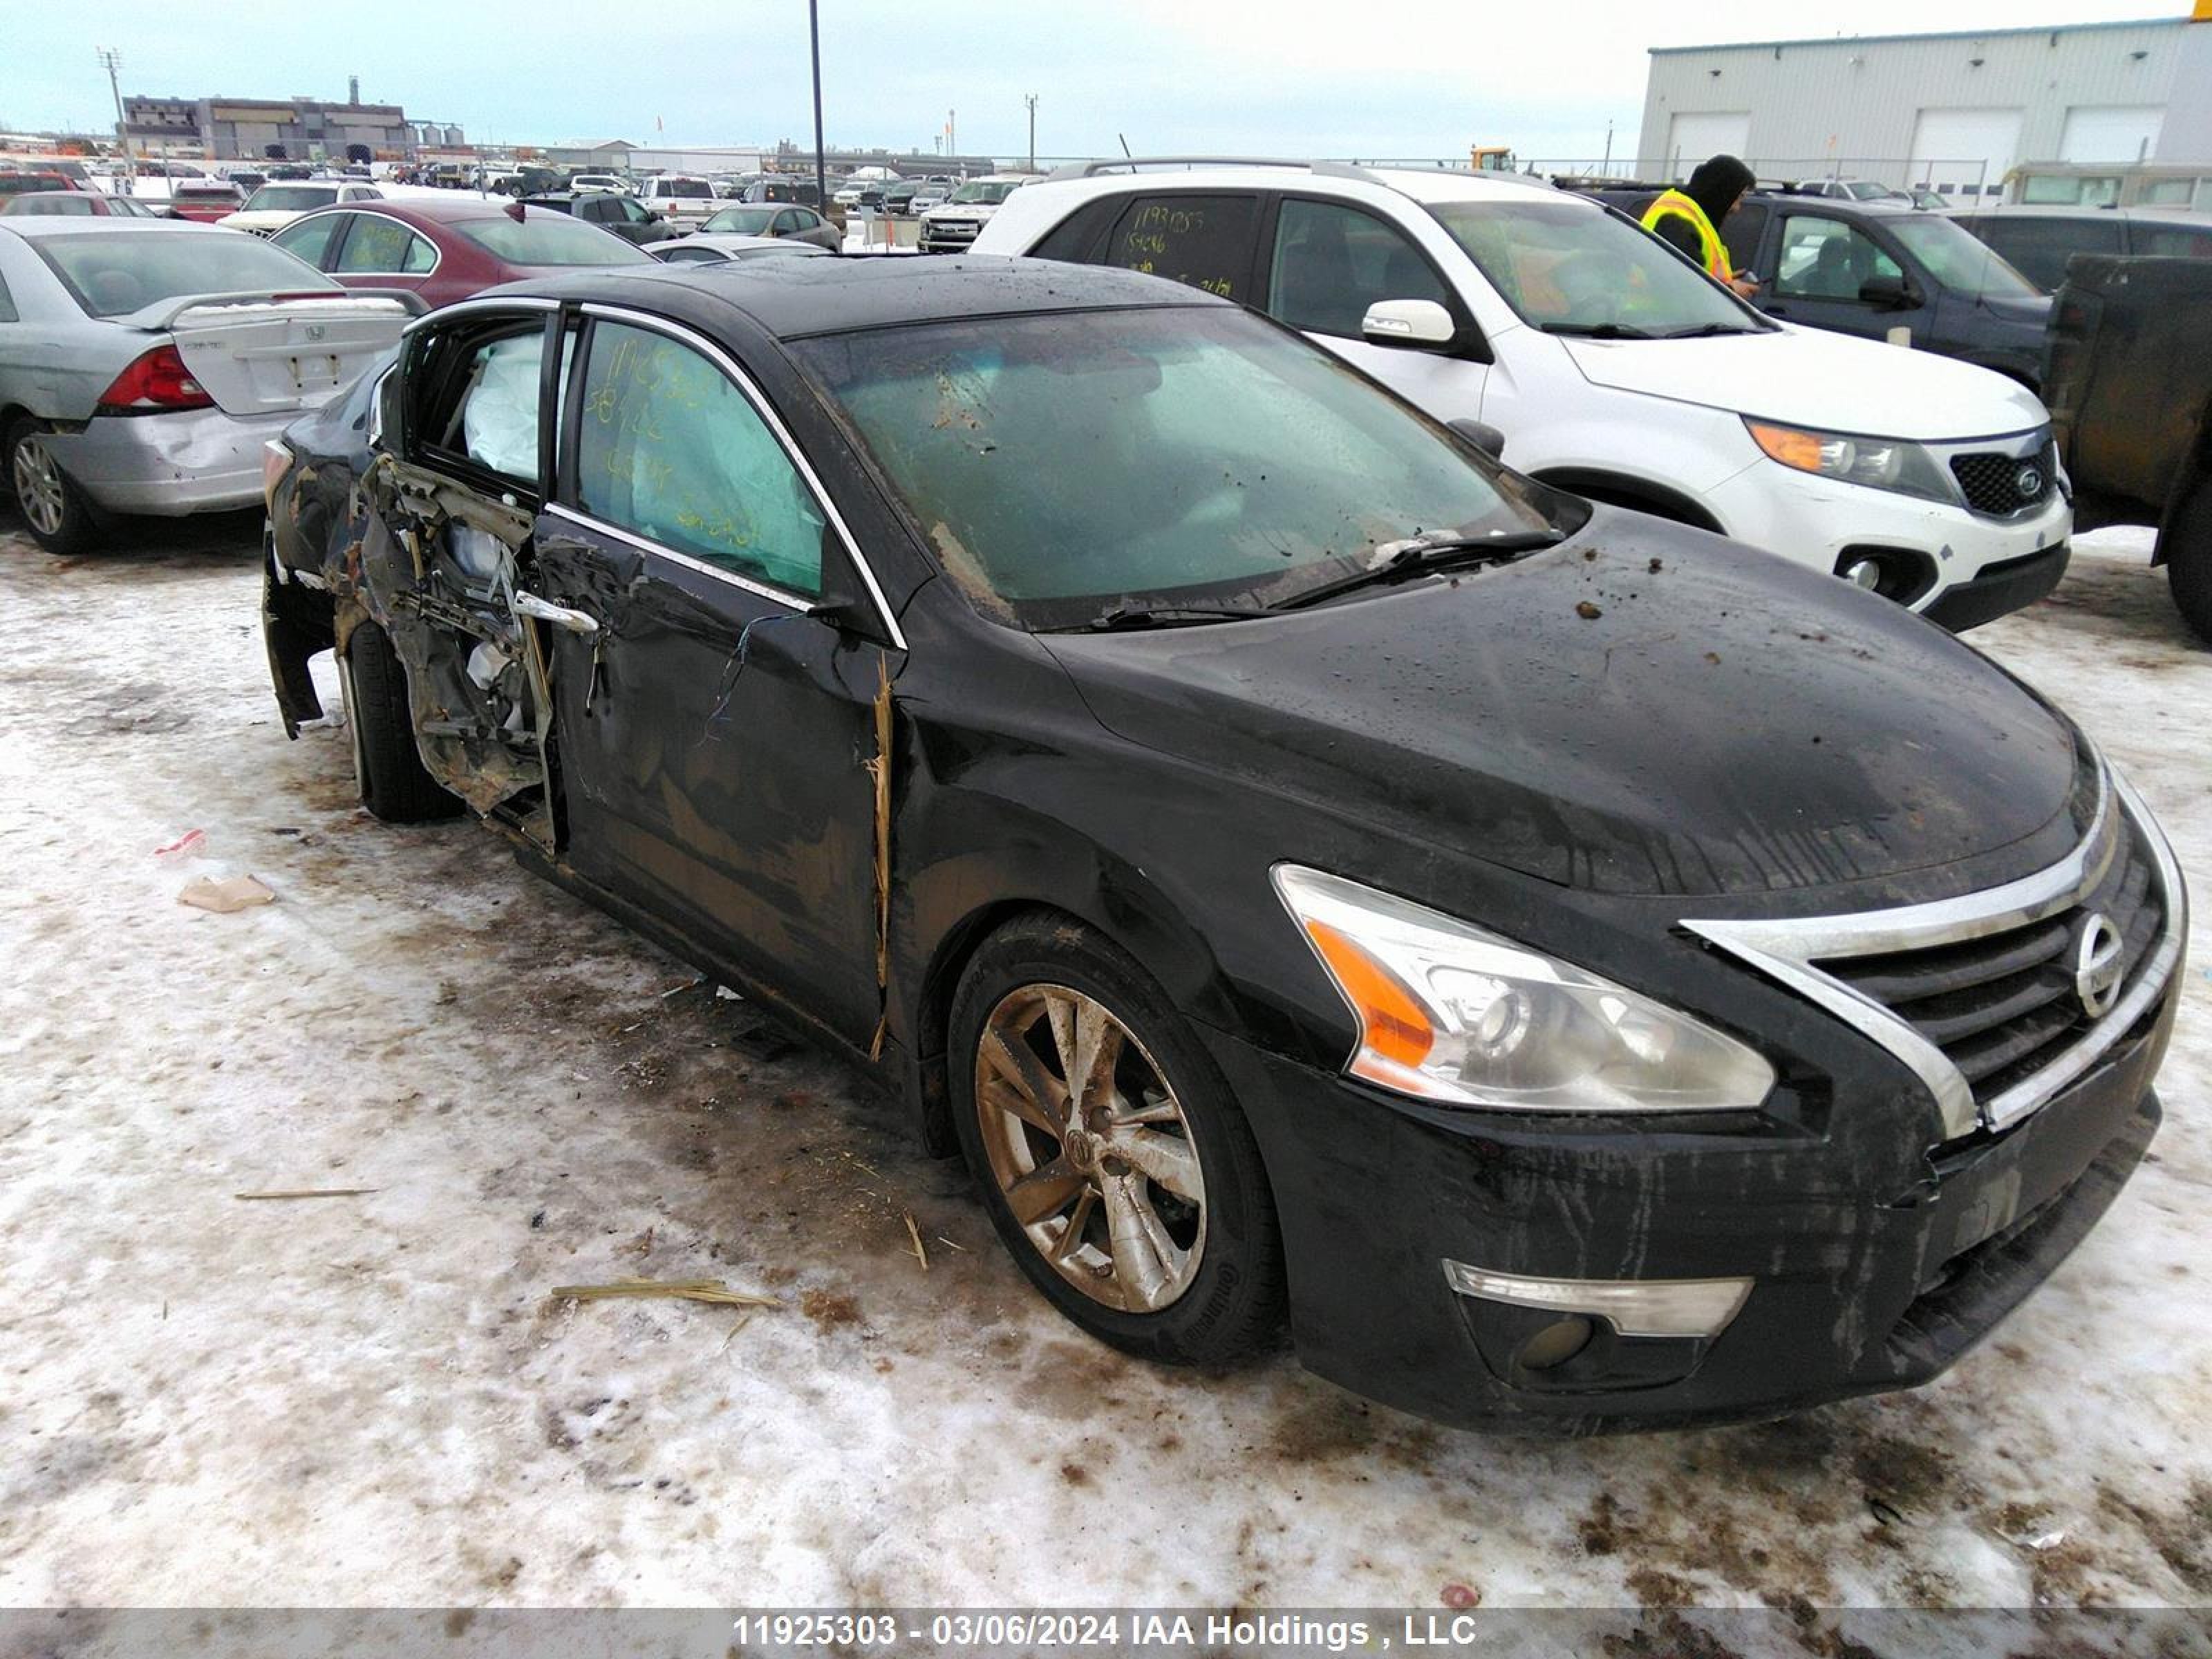
[[[347,288],[409,288],[425,305],[573,265],[655,263],[566,212],[473,195],[316,208],[270,241]]]

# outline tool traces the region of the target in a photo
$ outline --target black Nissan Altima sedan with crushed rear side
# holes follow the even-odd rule
[[[1927,1380],[2159,1121],[2064,714],[1117,270],[580,272],[270,453],[288,728],[880,1075],[1093,1336],[1588,1431]]]

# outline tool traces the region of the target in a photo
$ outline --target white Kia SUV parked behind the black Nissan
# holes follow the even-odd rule
[[[1440,420],[1495,427],[1517,471],[1951,628],[2066,573],[2073,507],[2035,394],[1761,316],[1615,210],[1537,181],[1093,161],[1013,192],[973,250],[1243,301]]]

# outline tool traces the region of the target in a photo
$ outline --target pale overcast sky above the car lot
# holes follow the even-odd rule
[[[1851,0],[1851,33],[2183,15],[2181,0]],[[812,142],[803,0],[0,0],[0,131],[113,126],[124,93],[345,97],[473,142]],[[1838,33],[1772,0],[821,0],[827,137],[964,153],[1522,157],[1635,150],[1648,46]]]

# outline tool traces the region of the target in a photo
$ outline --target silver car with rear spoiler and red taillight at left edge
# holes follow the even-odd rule
[[[69,553],[95,511],[252,507],[261,447],[411,310],[215,226],[0,221],[0,460],[31,535]]]

